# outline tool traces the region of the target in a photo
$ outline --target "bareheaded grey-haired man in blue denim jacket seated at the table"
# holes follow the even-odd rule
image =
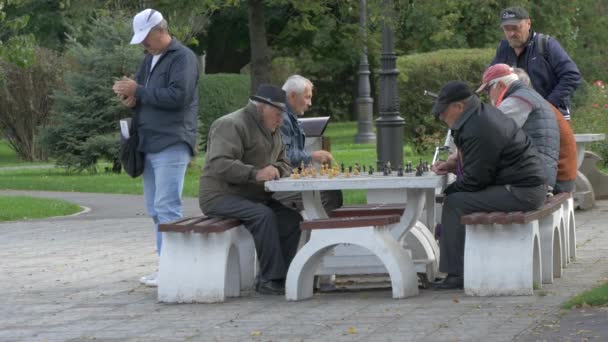
[[[306,135],[300,127],[298,117],[303,116],[312,105],[312,82],[300,75],[293,75],[285,81],[283,90],[287,95],[287,106],[283,112],[281,136],[289,162],[293,167],[299,167],[302,164],[307,167],[312,161],[317,163],[331,162],[334,159],[331,153],[324,150],[309,153],[304,148]],[[302,196],[299,192],[280,192],[276,193],[274,198],[289,208],[298,211],[303,210]],[[342,206],[342,191],[321,191],[321,201],[327,212],[340,208]]]

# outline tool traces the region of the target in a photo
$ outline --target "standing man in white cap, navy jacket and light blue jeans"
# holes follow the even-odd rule
[[[145,154],[144,197],[160,255],[158,225],[182,217],[184,176],[196,150],[199,65],[196,55],[171,37],[167,21],[153,9],[133,18],[131,44],[141,44],[146,55],[134,79],[123,77],[112,90],[138,116],[139,150]],[[156,272],[140,282],[156,286]]]

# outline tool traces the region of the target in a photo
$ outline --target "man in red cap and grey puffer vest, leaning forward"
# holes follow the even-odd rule
[[[486,91],[492,104],[515,120],[532,139],[543,161],[547,184],[555,187],[559,159],[559,128],[549,103],[525,86],[506,64],[489,67],[477,93]]]

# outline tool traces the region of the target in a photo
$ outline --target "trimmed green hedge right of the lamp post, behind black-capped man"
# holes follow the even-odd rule
[[[397,59],[405,139],[414,145],[416,152],[425,153],[434,145],[443,143],[446,131],[445,125],[430,114],[433,99],[423,96],[424,90],[439,92],[449,80],[467,81],[475,89],[481,83],[481,76],[494,53],[493,48],[439,50]]]

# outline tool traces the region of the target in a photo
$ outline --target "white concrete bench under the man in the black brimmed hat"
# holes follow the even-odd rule
[[[237,219],[197,216],[160,224],[158,300],[214,303],[253,287],[255,245]]]

